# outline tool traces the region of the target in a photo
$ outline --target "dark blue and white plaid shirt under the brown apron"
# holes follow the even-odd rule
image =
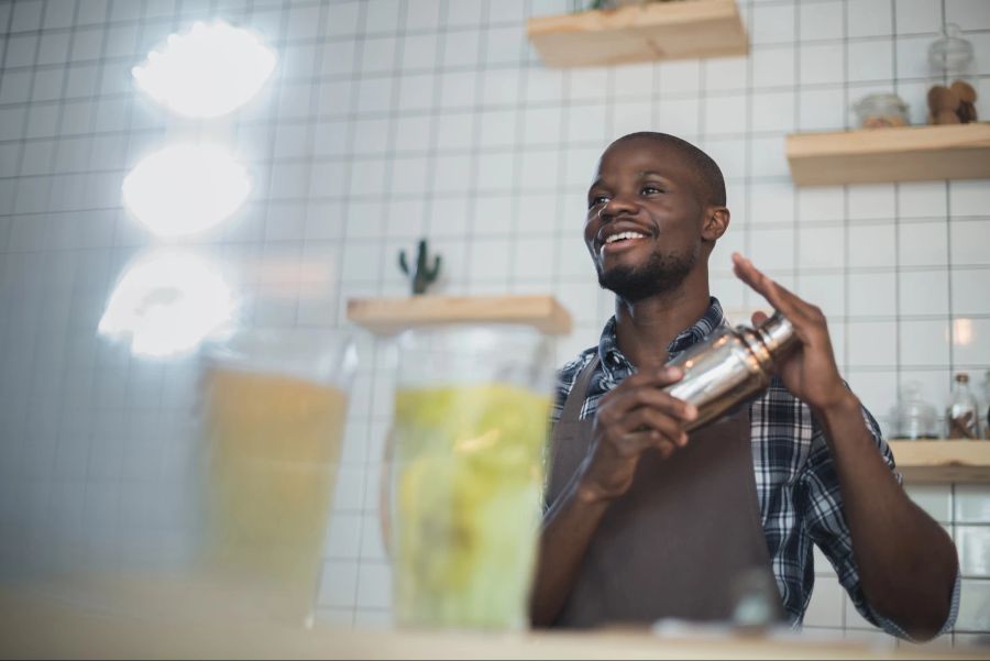
[[[712,298],[705,315],[682,331],[668,346],[673,359],[701,341],[716,328],[726,324],[718,300]],[[578,374],[597,355],[601,359],[588,384],[581,419],[595,415],[598,400],[635,372],[618,349],[615,318],[605,324],[597,346],[583,351],[563,366],[558,375],[557,401],[552,422],[560,419],[564,401]],[[877,441],[877,448],[898,482],[893,454],[883,441],[877,421],[865,408],[862,416]],[[792,626],[800,626],[815,583],[812,543],[818,546],[835,568],[838,579],[868,620],[889,634],[909,638],[895,624],[876,614],[867,604],[859,584],[859,572],[853,557],[849,526],[843,515],[843,496],[821,426],[806,404],[788,392],[774,377],[768,390],[750,405],[752,467],[763,535],[784,610]],[[959,579],[953,594],[953,608],[942,632],[955,623],[959,604]]]

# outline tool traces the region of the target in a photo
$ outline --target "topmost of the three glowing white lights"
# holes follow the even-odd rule
[[[227,114],[246,103],[275,68],[275,52],[223,21],[201,22],[131,69],[138,87],[173,112],[190,118]]]

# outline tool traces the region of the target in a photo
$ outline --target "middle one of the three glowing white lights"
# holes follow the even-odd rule
[[[145,157],[123,181],[123,201],[163,238],[212,228],[237,211],[251,190],[244,167],[212,145],[175,145]]]

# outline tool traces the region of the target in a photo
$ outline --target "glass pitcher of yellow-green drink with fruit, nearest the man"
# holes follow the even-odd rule
[[[396,623],[522,629],[552,403],[549,340],[516,326],[399,339],[383,527]]]

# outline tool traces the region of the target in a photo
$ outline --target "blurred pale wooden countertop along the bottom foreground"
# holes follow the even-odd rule
[[[271,623],[111,615],[67,601],[0,592],[0,657],[65,659],[986,659],[987,649],[936,652],[858,642],[647,630],[472,634],[312,629]]]

